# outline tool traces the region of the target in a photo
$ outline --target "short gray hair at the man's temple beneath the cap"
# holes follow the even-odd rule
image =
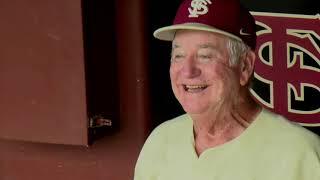
[[[250,50],[250,47],[245,43],[229,38],[227,42],[230,58],[229,65],[234,66],[240,62],[241,56]]]

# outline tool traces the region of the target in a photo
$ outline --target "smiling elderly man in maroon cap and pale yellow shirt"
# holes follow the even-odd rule
[[[185,0],[154,36],[172,41],[186,114],[152,132],[135,180],[320,180],[319,137],[250,96],[255,21],[238,0]]]

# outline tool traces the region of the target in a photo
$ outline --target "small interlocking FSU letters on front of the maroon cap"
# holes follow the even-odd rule
[[[199,15],[208,13],[208,4],[211,4],[210,0],[192,0],[189,10],[189,17],[199,17]]]

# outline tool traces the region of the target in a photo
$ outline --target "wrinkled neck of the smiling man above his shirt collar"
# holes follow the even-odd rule
[[[244,96],[239,104],[216,113],[191,115],[194,124],[195,148],[200,155],[208,148],[222,145],[238,137],[259,114],[261,107],[250,97]]]

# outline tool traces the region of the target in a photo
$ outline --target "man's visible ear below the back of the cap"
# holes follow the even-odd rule
[[[240,61],[240,84],[245,86],[253,73],[256,55],[254,51],[250,50],[242,58],[242,61]]]

